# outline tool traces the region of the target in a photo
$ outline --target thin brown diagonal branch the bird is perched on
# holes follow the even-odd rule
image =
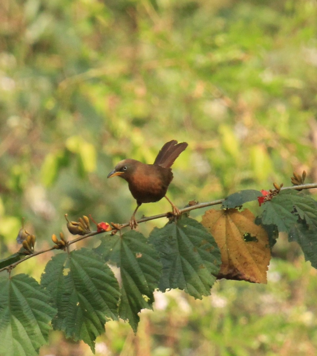
[[[302,190],[302,189],[313,189],[313,188],[317,188],[317,183],[307,183],[307,184],[301,184],[301,185],[293,185],[292,187],[282,187],[281,190],[284,190],[284,189]],[[213,201],[207,201],[205,203],[197,203],[197,204],[194,204],[194,205],[191,205],[191,206],[187,206],[186,208],[180,209],[180,213],[186,213],[187,211],[191,211],[191,210],[194,210],[194,209],[205,208],[206,206],[222,204],[224,200],[225,199],[218,199],[218,200],[213,200]],[[171,216],[171,212],[164,213],[164,214],[147,216],[145,218],[137,220],[137,223],[139,224],[139,223],[144,223],[145,221],[149,221],[149,220],[155,220],[155,219],[160,219],[160,218],[168,218],[170,216]],[[120,229],[123,229],[124,227],[130,226],[130,225],[129,225],[129,223],[124,223],[124,224],[120,224],[118,226],[119,226]],[[89,234],[86,234],[86,235],[83,235],[83,236],[79,236],[76,239],[67,241],[67,246],[69,246],[71,244],[74,244],[75,242],[78,242],[80,240],[87,239],[87,237],[103,234],[104,232],[105,231],[92,231],[92,232],[89,232]],[[32,254],[27,255],[24,258],[21,258],[21,260],[15,262],[15,263],[12,263],[12,265],[0,268],[0,272],[4,271],[5,269],[7,271],[11,271],[11,269],[13,269],[17,265],[19,265],[21,262],[23,262],[25,260],[28,260],[31,257],[40,255],[41,253],[45,253],[45,252],[52,251],[52,250],[55,250],[55,249],[56,248],[53,246],[53,247],[48,248],[46,250],[33,252]]]

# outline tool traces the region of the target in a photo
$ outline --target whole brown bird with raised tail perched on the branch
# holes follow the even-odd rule
[[[133,198],[136,199],[137,206],[130,219],[131,229],[137,226],[135,213],[142,203],[154,203],[165,197],[172,205],[173,214],[180,215],[180,211],[165,194],[173,179],[171,166],[187,146],[187,142],[177,143],[176,140],[166,142],[153,164],[145,164],[136,159],[124,159],[108,174],[107,178],[119,176],[125,179],[129,183]]]

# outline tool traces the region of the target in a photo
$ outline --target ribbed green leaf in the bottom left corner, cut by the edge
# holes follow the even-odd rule
[[[37,355],[55,314],[50,296],[32,277],[0,278],[0,355]]]

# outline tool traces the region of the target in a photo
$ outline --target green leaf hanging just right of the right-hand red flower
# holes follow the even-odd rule
[[[293,189],[282,190],[270,201],[261,205],[263,209],[260,218],[265,225],[276,225],[279,232],[287,231],[296,224],[297,216],[293,214],[295,196]]]

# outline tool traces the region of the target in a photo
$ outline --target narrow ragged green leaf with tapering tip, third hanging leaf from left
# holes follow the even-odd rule
[[[120,267],[120,318],[128,320],[136,332],[141,309],[152,309],[153,291],[158,287],[162,266],[158,253],[140,232],[129,231],[120,236],[107,236],[97,248],[106,261]]]

